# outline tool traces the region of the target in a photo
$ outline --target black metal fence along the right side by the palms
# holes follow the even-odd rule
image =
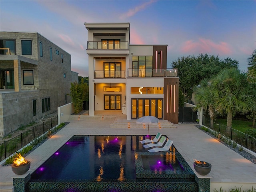
[[[215,121],[213,121],[212,127],[210,119],[206,118],[205,116],[203,116],[203,125],[212,130],[220,132],[220,134],[226,136],[227,138],[230,138],[234,142],[244,146],[245,148],[253,152],[256,152],[256,138]]]

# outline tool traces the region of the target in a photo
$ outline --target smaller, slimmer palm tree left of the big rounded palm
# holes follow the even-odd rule
[[[211,83],[208,79],[203,79],[200,81],[198,86],[194,87],[194,94],[196,100],[196,107],[194,110],[198,108],[208,109],[209,117],[210,117],[210,127],[213,128],[213,120],[215,118],[214,112],[214,100],[211,93]]]

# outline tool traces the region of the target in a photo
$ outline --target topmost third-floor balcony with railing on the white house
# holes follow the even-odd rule
[[[127,41],[88,41],[87,54],[129,54]]]

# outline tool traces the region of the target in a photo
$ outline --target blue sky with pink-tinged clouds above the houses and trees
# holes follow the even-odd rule
[[[130,22],[130,44],[167,44],[167,66],[208,53],[239,61],[256,49],[256,1],[0,1],[0,30],[38,32],[71,54],[72,70],[88,76],[84,22]]]

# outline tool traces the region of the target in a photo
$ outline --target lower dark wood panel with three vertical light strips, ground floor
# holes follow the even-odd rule
[[[179,78],[164,78],[164,120],[178,124]]]

